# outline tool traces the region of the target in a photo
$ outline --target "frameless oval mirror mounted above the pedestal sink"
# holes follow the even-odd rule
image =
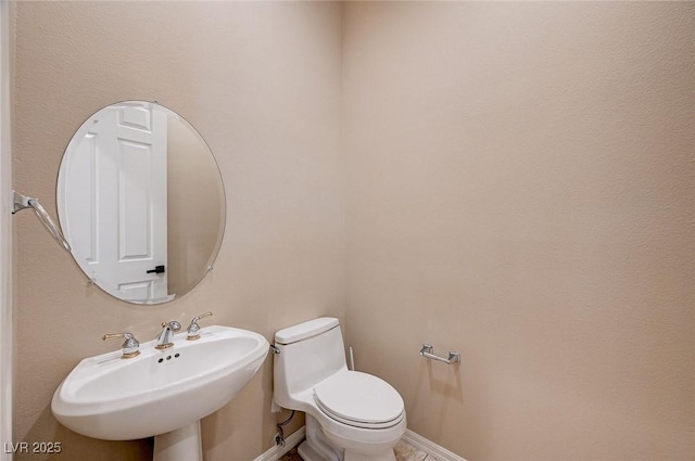
[[[217,163],[198,131],[157,103],[121,102],[89,117],[65,150],[56,197],[77,265],[129,303],[188,293],[222,244]]]

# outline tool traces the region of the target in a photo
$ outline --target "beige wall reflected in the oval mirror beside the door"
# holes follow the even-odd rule
[[[189,125],[167,117],[167,287],[180,296],[211,265],[224,228],[224,188],[215,159]]]

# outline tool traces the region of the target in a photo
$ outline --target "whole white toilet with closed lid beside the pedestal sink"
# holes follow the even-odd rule
[[[338,319],[323,317],[275,334],[275,401],[306,412],[305,461],[395,461],[405,433],[396,389],[350,371]]]

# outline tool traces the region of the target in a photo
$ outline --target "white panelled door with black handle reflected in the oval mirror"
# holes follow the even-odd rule
[[[168,294],[166,139],[166,114],[123,103],[87,127],[68,166],[74,253],[102,287],[128,300]]]

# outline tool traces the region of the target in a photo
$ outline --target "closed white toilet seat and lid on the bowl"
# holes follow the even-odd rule
[[[358,371],[340,371],[314,386],[314,401],[327,417],[362,428],[387,428],[404,415],[403,399],[386,381]]]

